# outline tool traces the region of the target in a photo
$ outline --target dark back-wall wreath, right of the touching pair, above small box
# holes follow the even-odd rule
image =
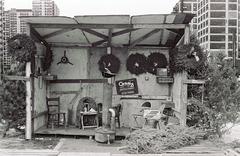
[[[151,53],[148,58],[148,72],[156,75],[158,68],[167,67],[167,58],[164,54],[161,53]]]

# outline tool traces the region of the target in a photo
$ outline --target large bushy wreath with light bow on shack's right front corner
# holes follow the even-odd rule
[[[198,45],[181,45],[170,51],[170,70],[172,73],[196,72],[205,65],[202,49]]]

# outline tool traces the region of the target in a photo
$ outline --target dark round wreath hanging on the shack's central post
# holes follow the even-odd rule
[[[98,61],[99,70],[103,77],[113,77],[120,69],[120,60],[113,54],[103,55]]]

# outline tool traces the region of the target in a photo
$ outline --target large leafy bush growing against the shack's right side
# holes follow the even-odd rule
[[[240,88],[232,65],[232,60],[221,53],[209,58],[203,74],[206,80],[204,101],[200,102],[199,97],[191,100],[193,111],[188,112],[191,119],[195,119],[193,125],[210,129],[219,137],[227,131],[226,124],[239,122]]]

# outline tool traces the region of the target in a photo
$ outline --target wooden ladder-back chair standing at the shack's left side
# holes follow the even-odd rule
[[[57,127],[60,125],[60,119],[62,118],[62,124],[64,128],[66,127],[66,113],[60,112],[60,97],[56,98],[46,98],[47,103],[47,128],[49,124],[54,128],[54,125],[57,124]]]

